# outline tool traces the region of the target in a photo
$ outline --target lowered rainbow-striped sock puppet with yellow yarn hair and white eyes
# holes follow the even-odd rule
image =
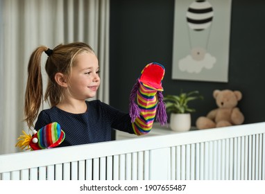
[[[65,139],[65,132],[62,131],[59,123],[50,123],[40,130],[33,130],[33,136],[26,134],[19,136],[16,147],[26,148],[26,150],[42,150],[55,148]]]

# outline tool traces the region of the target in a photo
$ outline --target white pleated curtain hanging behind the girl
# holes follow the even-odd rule
[[[86,42],[99,58],[97,98],[109,103],[110,0],[0,0],[0,154],[18,152],[28,60],[40,45]],[[44,72],[43,55],[42,71]],[[44,89],[46,89],[46,73]],[[48,105],[44,104],[44,108]]]

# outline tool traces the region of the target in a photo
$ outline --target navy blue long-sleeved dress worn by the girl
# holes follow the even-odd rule
[[[58,107],[40,112],[35,130],[57,122],[65,132],[65,140],[59,145],[80,145],[111,140],[112,129],[134,134],[129,114],[119,111],[100,100],[86,101],[87,112],[72,114]]]

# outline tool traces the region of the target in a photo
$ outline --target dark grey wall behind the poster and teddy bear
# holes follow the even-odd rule
[[[194,125],[198,116],[216,108],[214,89],[243,93],[238,107],[245,123],[265,121],[265,1],[233,0],[230,31],[229,82],[196,82],[171,79],[174,0],[110,1],[110,105],[128,112],[130,90],[149,62],[166,68],[164,95],[198,90],[203,101],[191,107]]]

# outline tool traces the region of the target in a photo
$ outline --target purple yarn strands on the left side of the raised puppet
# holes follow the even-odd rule
[[[132,91],[130,91],[129,114],[130,114],[130,119],[131,119],[132,123],[135,122],[135,118],[137,118],[140,115],[140,111],[141,111],[140,108],[138,107],[138,105],[135,103],[135,98],[137,96],[138,89],[139,89],[139,79],[137,79],[137,82],[132,87]]]

